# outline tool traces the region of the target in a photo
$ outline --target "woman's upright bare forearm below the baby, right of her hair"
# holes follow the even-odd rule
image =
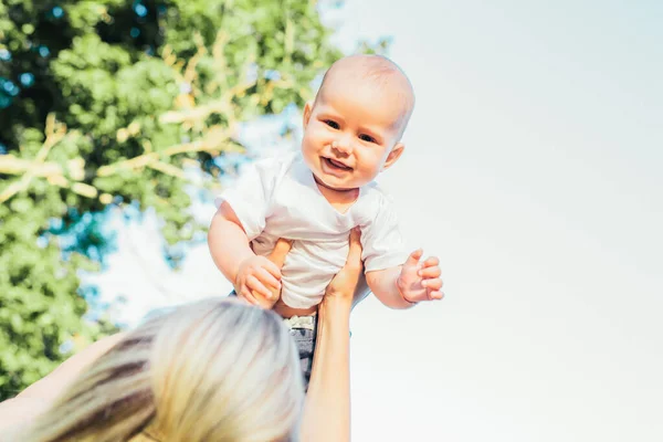
[[[351,299],[325,298],[302,421],[302,441],[350,440]]]

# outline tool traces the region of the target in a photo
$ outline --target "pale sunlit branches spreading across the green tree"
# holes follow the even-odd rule
[[[235,116],[236,109],[233,101],[238,97],[243,97],[246,94],[246,91],[259,85],[262,86],[259,87],[261,92],[251,96],[251,102],[254,102],[255,105],[264,106],[273,98],[276,88],[292,87],[294,85],[294,82],[285,78],[267,81],[264,78],[249,78],[248,73],[250,72],[250,66],[253,62],[253,57],[250,56],[242,69],[242,72],[244,72],[243,78],[238,84],[227,88],[219,99],[196,106],[194,95],[198,95],[196,92],[200,92],[197,88],[193,88],[193,83],[197,77],[196,67],[200,59],[208,52],[200,35],[197,35],[196,39],[198,51],[188,63],[186,63],[185,72],[182,72],[183,65],[177,63],[177,57],[172,51],[169,48],[166,48],[164,51],[162,59],[165,63],[176,72],[179,81],[190,84],[192,90],[182,92],[175,102],[176,107],[179,107],[178,104],[185,102],[187,106],[182,105],[183,108],[166,112],[158,117],[158,120],[162,124],[180,124],[185,127],[191,127],[191,125],[197,122],[204,122],[212,114],[222,114],[225,117],[228,126],[221,127],[217,125],[207,127],[202,139],[177,144],[159,151],[155,151],[151,148],[151,144],[144,144],[144,154],[134,158],[123,159],[110,165],[102,166],[94,172],[94,176],[109,177],[122,170],[133,171],[148,167],[172,177],[187,179],[186,173],[181,168],[168,164],[166,159],[180,154],[242,151],[242,147],[232,140],[232,133],[238,125]],[[228,40],[227,34],[219,32],[212,48],[214,60],[222,65],[225,64],[222,49]],[[219,75],[223,83],[227,82],[224,72],[220,72]],[[180,99],[182,96],[187,96],[188,99]],[[188,107],[188,104],[192,104],[193,106]],[[139,133],[140,124],[133,122],[129,126],[118,129],[116,138],[119,143],[124,143],[129,137],[137,136]],[[88,183],[81,182],[86,176],[84,169],[85,161],[83,159],[76,158],[70,160],[66,168],[54,161],[45,161],[53,146],[62,141],[69,135],[66,127],[55,120],[54,114],[49,114],[46,118],[45,134],[46,139],[35,158],[32,160],[18,158],[13,155],[0,156],[0,173],[21,175],[21,178],[18,181],[10,183],[2,192],[0,192],[0,203],[28,189],[33,178],[46,178],[51,185],[69,188],[75,193],[87,198],[96,198],[98,196],[98,189]],[[199,182],[196,183],[199,185]],[[108,198],[109,196],[107,193],[104,193],[103,197],[102,202],[112,201],[112,198]]]

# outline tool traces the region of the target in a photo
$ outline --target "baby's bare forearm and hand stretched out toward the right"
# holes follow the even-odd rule
[[[442,299],[439,260],[420,262],[422,253],[412,252],[403,265],[366,273],[368,286],[382,304],[408,308],[420,301]]]

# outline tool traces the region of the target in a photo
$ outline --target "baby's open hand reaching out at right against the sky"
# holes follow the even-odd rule
[[[396,281],[401,296],[410,303],[442,299],[444,296],[440,291],[442,288],[440,260],[431,256],[420,263],[419,260],[422,255],[423,251],[421,249],[412,252]]]

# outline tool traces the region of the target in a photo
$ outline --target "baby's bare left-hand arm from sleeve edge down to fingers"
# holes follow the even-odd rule
[[[214,264],[233,283],[239,296],[263,307],[269,305],[264,305],[261,296],[271,304],[277,301],[273,299],[272,292],[277,293],[281,288],[280,269],[266,257],[253,253],[242,223],[225,201],[212,218],[208,245]]]

